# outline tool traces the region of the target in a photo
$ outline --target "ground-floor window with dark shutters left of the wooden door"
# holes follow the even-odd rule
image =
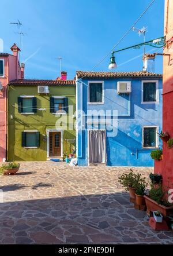
[[[22,147],[37,148],[40,146],[39,131],[23,131],[22,132]]]

